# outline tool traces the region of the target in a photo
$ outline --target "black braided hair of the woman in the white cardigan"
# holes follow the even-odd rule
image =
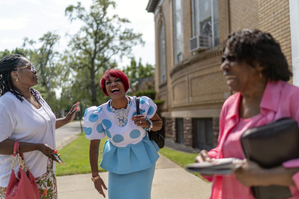
[[[11,54],[7,55],[4,58],[0,60],[0,96],[4,95],[6,92],[10,91],[12,94],[16,95],[18,99],[23,101],[22,98],[24,95],[21,95],[21,93],[17,92],[12,85],[11,75],[10,73],[15,70],[15,67],[21,62],[21,59],[25,58],[22,55],[18,54]],[[35,90],[34,88],[30,88],[30,92],[32,95],[36,97],[36,99],[40,99],[43,102],[45,102],[40,92]]]

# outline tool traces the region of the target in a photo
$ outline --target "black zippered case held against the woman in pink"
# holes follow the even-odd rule
[[[241,136],[247,159],[263,168],[281,165],[299,158],[298,124],[291,118],[282,118],[266,125],[247,129]],[[292,197],[287,186],[254,186],[251,191],[257,199],[284,199]]]

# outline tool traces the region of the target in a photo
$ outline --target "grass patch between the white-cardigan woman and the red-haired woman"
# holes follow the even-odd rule
[[[107,137],[103,138],[99,147],[99,165],[102,161],[103,147]],[[89,164],[89,143],[84,133],[80,133],[78,138],[70,142],[58,151],[61,159],[65,162],[65,166],[56,164],[56,176],[88,174],[91,173]],[[99,172],[106,170],[99,167]]]

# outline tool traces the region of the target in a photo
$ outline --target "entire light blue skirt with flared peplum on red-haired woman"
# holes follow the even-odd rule
[[[109,199],[150,199],[158,151],[148,134],[126,147],[114,146],[107,140],[100,166],[109,171]]]

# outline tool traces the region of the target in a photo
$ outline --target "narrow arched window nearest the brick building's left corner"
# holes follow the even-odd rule
[[[166,61],[165,61],[165,37],[164,37],[164,24],[160,28],[160,83],[166,81]]]

